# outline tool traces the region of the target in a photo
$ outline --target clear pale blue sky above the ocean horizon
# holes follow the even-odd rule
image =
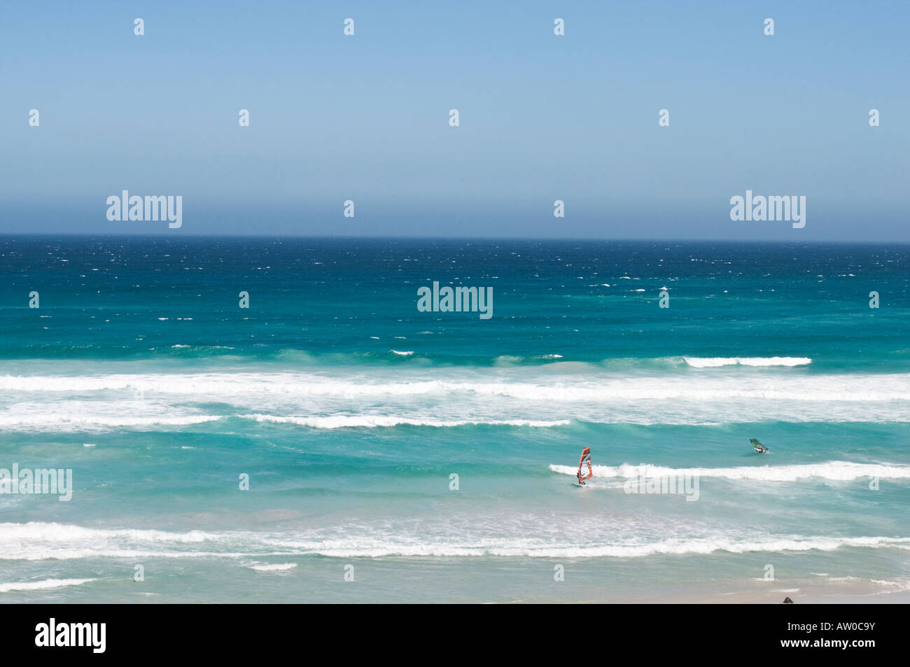
[[[897,0],[3,2],[0,233],[907,242],[908,33]],[[125,189],[182,227],[108,220]],[[805,227],[732,221],[746,190]]]

